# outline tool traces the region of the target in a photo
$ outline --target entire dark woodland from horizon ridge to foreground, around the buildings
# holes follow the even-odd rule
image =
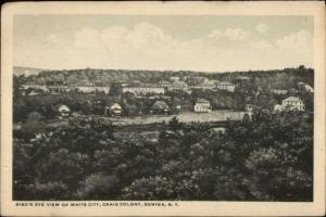
[[[248,76],[252,85],[235,92],[172,90],[164,95],[21,91],[26,82],[111,85],[197,75],[221,81]],[[314,94],[298,91],[299,81],[313,87],[314,71],[304,66],[211,74],[86,68],[14,76],[13,200],[311,202]],[[288,93],[274,94],[272,89]],[[305,111],[272,112],[287,97],[302,99]],[[177,117],[123,129],[100,116],[113,102],[122,105],[125,116],[146,114],[155,98],[164,99],[172,110],[181,105],[180,112],[191,111],[198,98],[209,100],[213,110],[243,111],[246,103],[255,107],[241,120],[222,123],[222,129],[212,127],[221,123],[185,124]],[[59,120],[59,104],[86,118],[72,115]]]

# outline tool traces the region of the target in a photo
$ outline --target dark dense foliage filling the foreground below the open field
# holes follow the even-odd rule
[[[14,131],[14,200],[313,199],[313,119],[303,113],[256,111],[225,132],[173,118],[142,133],[93,118],[36,127],[34,116]]]

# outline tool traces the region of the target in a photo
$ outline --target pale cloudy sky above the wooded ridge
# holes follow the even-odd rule
[[[312,16],[15,15],[15,66],[231,72],[313,67]]]

